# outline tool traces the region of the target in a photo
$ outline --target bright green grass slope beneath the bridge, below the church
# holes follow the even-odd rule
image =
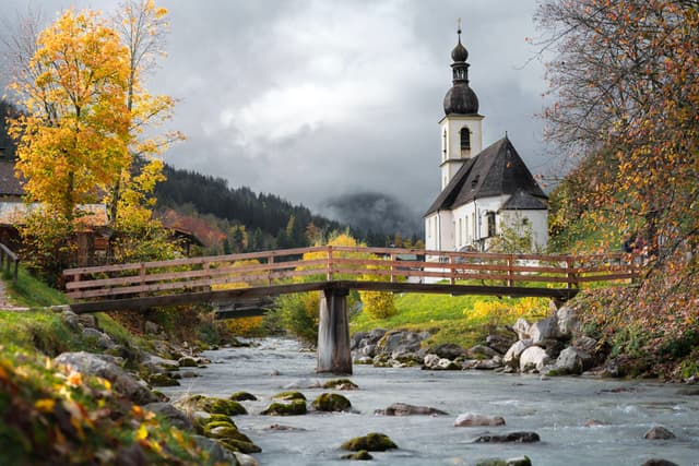
[[[525,318],[535,318],[545,314],[548,300],[536,299],[532,312]],[[482,343],[490,331],[497,325],[512,324],[518,315],[481,315],[474,312],[474,308],[484,303],[501,303],[506,308],[514,308],[522,299],[498,298],[484,296],[449,296],[449,295],[422,295],[404,294],[395,297],[398,313],[388,319],[374,320],[365,313],[352,316],[350,330],[352,333],[368,331],[371,328],[429,331],[431,337],[427,345],[442,343],[455,343],[461,346],[473,346]]]

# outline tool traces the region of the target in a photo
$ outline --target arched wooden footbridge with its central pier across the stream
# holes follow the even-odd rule
[[[639,273],[630,254],[543,255],[313,247],[63,272],[78,313],[229,302],[320,290],[319,372],[351,373],[346,296],[392,292],[549,297],[625,284]]]

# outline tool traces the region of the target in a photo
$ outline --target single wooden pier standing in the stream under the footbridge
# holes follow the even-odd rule
[[[346,288],[330,288],[320,298],[316,372],[352,374]]]

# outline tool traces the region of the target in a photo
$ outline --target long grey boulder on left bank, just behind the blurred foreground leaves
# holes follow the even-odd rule
[[[159,402],[157,395],[151,392],[144,383],[139,382],[137,378],[117,366],[114,360],[114,357],[107,355],[78,351],[63,353],[56,357],[54,362],[78,372],[108,380],[116,392],[138,405]]]

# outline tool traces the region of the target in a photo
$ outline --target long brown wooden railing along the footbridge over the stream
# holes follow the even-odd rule
[[[572,289],[583,284],[631,280],[638,274],[636,263],[630,254],[620,253],[493,254],[325,246],[70,268],[63,276],[68,296],[82,300],[265,287],[300,277]]]

